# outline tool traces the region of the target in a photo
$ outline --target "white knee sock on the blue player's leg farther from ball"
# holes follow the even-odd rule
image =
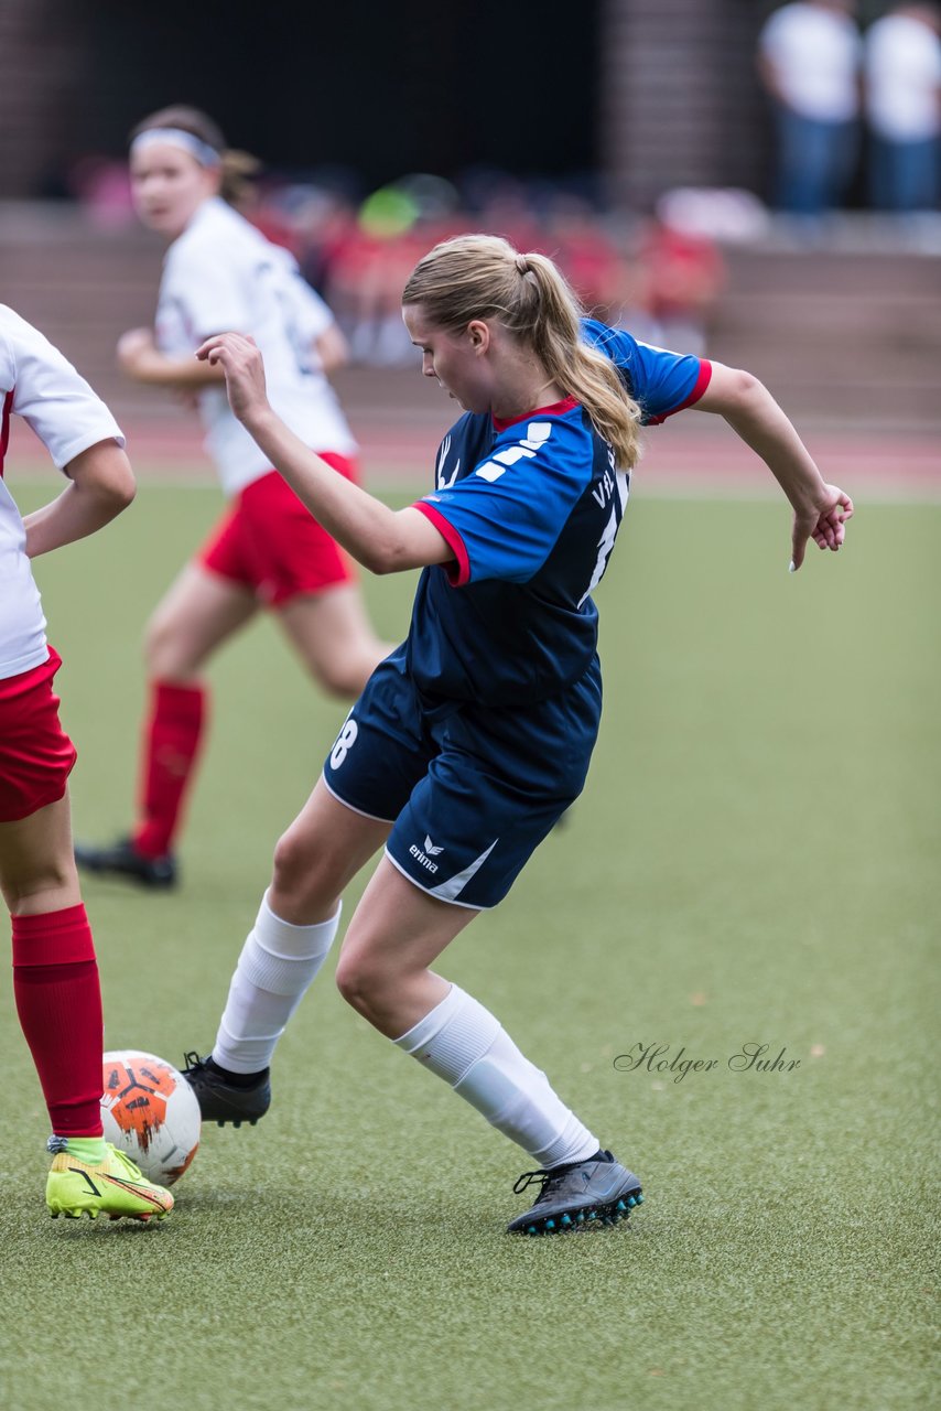
[[[597,1137],[556,1096],[545,1072],[457,985],[395,1044],[450,1082],[539,1165],[585,1161],[598,1150]]]

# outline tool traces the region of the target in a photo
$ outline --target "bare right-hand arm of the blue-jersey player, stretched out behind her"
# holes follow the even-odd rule
[[[813,456],[767,388],[736,368],[712,363],[712,375],[694,411],[718,412],[756,452],[794,509],[791,571],[804,562],[807,540],[837,552],[845,539],[845,521],[852,518],[852,499],[820,474]]]

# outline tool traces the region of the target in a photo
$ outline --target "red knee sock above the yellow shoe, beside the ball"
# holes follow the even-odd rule
[[[13,917],[13,993],[52,1132],[102,1136],[102,991],[83,906]]]

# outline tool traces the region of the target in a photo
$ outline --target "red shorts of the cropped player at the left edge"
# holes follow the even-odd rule
[[[52,690],[61,666],[49,648],[42,666],[0,682],[0,823],[28,818],[65,793],[76,753]]]

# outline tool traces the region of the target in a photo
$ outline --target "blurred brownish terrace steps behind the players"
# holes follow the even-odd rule
[[[126,423],[183,433],[172,398],[114,365],[152,320],[162,247],[135,227],[97,230],[69,206],[0,205],[0,298],[72,357]],[[911,251],[731,248],[708,354],[765,380],[801,425],[941,435],[941,258]],[[451,404],[412,371],[348,368],[354,426],[446,423]]]

